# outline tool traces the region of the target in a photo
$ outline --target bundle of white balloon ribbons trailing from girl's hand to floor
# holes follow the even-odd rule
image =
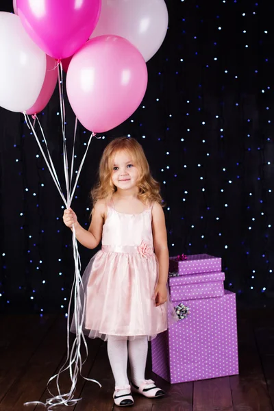
[[[88,144],[86,147],[86,151],[83,155],[82,158],[82,162],[79,166],[79,170],[77,173],[77,177],[75,179],[75,184],[73,186],[73,190],[71,190],[72,188],[72,180],[73,180],[73,166],[74,166],[74,153],[75,153],[75,140],[76,140],[76,130],[77,130],[77,119],[75,119],[75,130],[74,130],[74,138],[73,138],[73,158],[71,161],[71,177],[69,178],[69,162],[68,162],[68,155],[67,155],[67,150],[66,150],[66,135],[65,135],[65,110],[64,110],[64,89],[62,88],[61,84],[62,84],[62,63],[59,64],[58,68],[60,69],[58,71],[58,77],[59,77],[59,93],[60,93],[60,112],[61,112],[61,119],[62,119],[62,137],[63,137],[63,149],[64,149],[64,175],[65,175],[65,180],[66,180],[66,198],[62,192],[62,188],[58,179],[58,175],[55,171],[55,167],[51,158],[51,154],[49,152],[49,147],[47,145],[47,139],[45,138],[45,133],[43,132],[42,129],[42,125],[40,124],[40,121],[38,120],[38,117],[36,116],[36,120],[38,122],[38,125],[40,127],[40,131],[42,133],[42,137],[43,137],[43,141],[45,142],[45,146],[47,149],[47,155],[45,153],[45,151],[42,149],[42,145],[40,144],[40,141],[38,139],[38,136],[36,134],[36,131],[34,129],[34,125],[32,125],[29,116],[24,113],[25,115],[25,120],[27,123],[27,127],[29,127],[29,129],[32,129],[32,133],[34,134],[36,141],[38,142],[38,147],[40,148],[40,151],[42,152],[42,155],[45,159],[45,162],[47,164],[47,167],[49,169],[49,172],[51,173],[51,177],[53,178],[53,182],[55,183],[55,186],[58,188],[58,192],[62,198],[62,200],[64,201],[64,204],[66,206],[66,208],[69,208],[71,206],[71,201],[73,199],[73,195],[75,193],[75,189],[77,188],[77,182],[79,180],[79,175],[82,171],[82,167],[84,164],[84,161],[86,159],[86,155],[88,153],[88,148],[90,147],[90,142],[92,140],[92,137],[95,136],[94,133],[91,134],[89,140],[88,140]],[[61,72],[61,73],[60,73]],[[47,159],[47,156],[49,158],[49,160]],[[69,308],[68,308],[68,319],[67,319],[67,323],[66,323],[66,360],[64,362],[64,364],[60,367],[60,370],[58,371],[57,374],[53,375],[49,381],[47,382],[47,390],[49,391],[49,394],[51,395],[51,398],[46,399],[45,403],[42,403],[41,401],[31,401],[31,402],[27,402],[24,403],[24,405],[29,405],[29,404],[41,404],[43,406],[45,406],[45,408],[47,408],[49,411],[53,410],[53,408],[55,406],[60,406],[60,405],[64,405],[64,406],[75,406],[77,404],[78,401],[81,400],[81,398],[79,399],[75,399],[74,395],[75,395],[75,390],[76,390],[76,384],[77,384],[77,379],[78,379],[78,375],[82,375],[82,366],[84,365],[84,363],[86,362],[87,358],[88,358],[88,345],[86,343],[86,339],[84,336],[84,332],[83,332],[83,324],[84,324],[84,312],[85,312],[85,308],[86,308],[86,295],[84,293],[84,286],[83,286],[83,282],[82,282],[82,277],[80,274],[81,271],[81,261],[80,261],[80,256],[79,256],[79,251],[78,251],[78,246],[77,246],[77,240],[76,240],[76,236],[75,236],[75,227],[73,225],[72,227],[72,231],[73,231],[73,259],[75,262],[75,275],[74,275],[74,280],[73,280],[73,287],[71,289],[71,297],[69,299]],[[80,298],[80,292],[82,290],[82,294],[84,295],[84,299],[83,299],[83,303],[81,301]],[[71,303],[72,301],[74,301],[74,322],[75,322],[75,338],[73,340],[73,344],[72,346],[70,345],[70,330],[69,330],[69,324],[70,324],[70,319],[71,319]],[[81,343],[84,343],[84,348],[85,348],[85,356],[86,358],[82,359],[82,353],[81,353]],[[59,385],[59,381],[60,381],[60,375],[64,372],[69,370],[69,375],[71,378],[71,389],[69,390],[69,393],[65,393],[62,394],[61,390],[60,390],[60,385]],[[83,377],[84,379],[86,379],[87,381],[90,382],[95,382],[96,384],[98,384],[101,387],[101,384],[99,382],[97,382],[95,379],[90,379],[90,378],[86,378]],[[58,395],[53,395],[53,393],[51,393],[51,391],[49,390],[49,383],[53,380],[56,379],[56,387],[58,390]]]

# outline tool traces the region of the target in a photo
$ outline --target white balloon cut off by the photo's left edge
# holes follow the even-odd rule
[[[20,18],[0,12],[0,105],[24,112],[40,94],[46,55],[25,32]]]

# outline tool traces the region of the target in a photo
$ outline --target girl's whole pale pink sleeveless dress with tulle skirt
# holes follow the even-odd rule
[[[90,338],[147,336],[151,340],[167,328],[168,303],[155,306],[158,260],[153,252],[151,209],[125,214],[108,206],[102,248],[83,275],[84,332]]]

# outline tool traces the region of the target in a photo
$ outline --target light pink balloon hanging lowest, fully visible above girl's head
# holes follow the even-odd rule
[[[147,88],[147,65],[125,38],[99,36],[71,60],[66,90],[79,121],[103,133],[134,113]]]

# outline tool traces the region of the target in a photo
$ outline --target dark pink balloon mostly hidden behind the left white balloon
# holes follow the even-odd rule
[[[40,95],[34,105],[26,110],[27,114],[39,113],[46,107],[47,103],[49,103],[49,100],[51,99],[51,96],[53,95],[57,79],[58,69],[56,67],[56,60],[47,55],[47,71]]]

